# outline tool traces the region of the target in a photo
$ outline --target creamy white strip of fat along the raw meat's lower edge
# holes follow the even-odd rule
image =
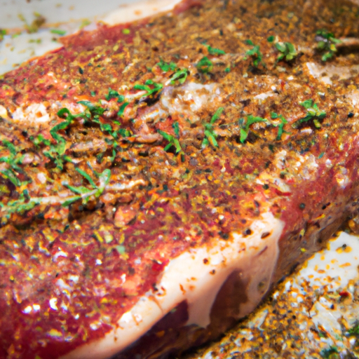
[[[62,359],[109,358],[139,339],[184,300],[189,306],[187,325],[207,327],[217,293],[233,271],[241,271],[241,278],[248,283],[248,302],[240,306],[240,316],[246,316],[269,289],[283,226],[271,212],[266,212],[252,223],[250,236],[232,233],[229,241],[215,239],[210,246],[190,249],[172,259],[156,283],[160,291],[149,291],[141,297],[104,338],[84,344]]]

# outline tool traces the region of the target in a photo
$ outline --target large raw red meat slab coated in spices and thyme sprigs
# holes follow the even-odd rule
[[[0,79],[0,357],[165,358],[358,210],[358,8],[187,1]],[[356,41],[356,42],[355,42]]]

